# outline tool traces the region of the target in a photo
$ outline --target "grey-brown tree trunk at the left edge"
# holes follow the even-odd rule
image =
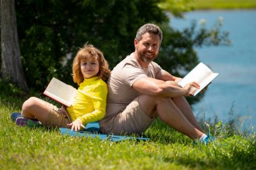
[[[1,77],[28,92],[22,69],[14,0],[1,0]]]

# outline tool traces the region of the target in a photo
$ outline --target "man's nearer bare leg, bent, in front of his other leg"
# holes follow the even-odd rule
[[[195,126],[187,120],[170,97],[140,95],[139,105],[141,105],[143,111],[150,118],[154,117],[153,114],[156,111],[163,122],[189,136],[189,138],[199,139],[203,136],[203,132],[195,128]]]

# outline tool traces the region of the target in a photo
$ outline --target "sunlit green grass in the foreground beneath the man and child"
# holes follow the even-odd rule
[[[0,169],[256,169],[255,133],[222,122],[210,126],[217,140],[208,146],[160,120],[143,135],[147,142],[74,138],[57,128],[16,126],[9,114],[29,96],[0,91]]]

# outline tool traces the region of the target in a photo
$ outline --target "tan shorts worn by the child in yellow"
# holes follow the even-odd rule
[[[64,107],[60,109],[49,103],[49,114],[46,118],[45,126],[68,128],[67,124],[71,123],[67,110]]]

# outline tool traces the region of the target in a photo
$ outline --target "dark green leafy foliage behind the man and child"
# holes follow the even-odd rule
[[[184,71],[189,71],[198,62],[195,46],[209,44],[214,34],[206,29],[196,33],[195,25],[183,32],[173,30],[167,14],[158,7],[160,2],[15,1],[22,64],[28,86],[43,91],[52,77],[74,85],[72,60],[77,49],[86,42],[100,48],[113,69],[133,52],[136,31],[148,22],[158,24],[164,32],[158,59],[160,65],[173,75],[184,75]],[[184,11],[180,6],[174,8]],[[219,32],[215,32],[216,42],[210,45],[226,40]]]

